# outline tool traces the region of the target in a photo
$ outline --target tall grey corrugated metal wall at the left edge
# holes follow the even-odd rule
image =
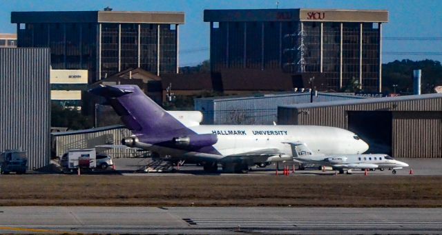
[[[0,151],[28,152],[28,169],[50,159],[50,50],[0,48]]]

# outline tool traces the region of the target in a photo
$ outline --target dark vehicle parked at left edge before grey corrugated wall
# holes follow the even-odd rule
[[[28,158],[26,152],[20,150],[5,150],[0,153],[0,174],[26,174]]]

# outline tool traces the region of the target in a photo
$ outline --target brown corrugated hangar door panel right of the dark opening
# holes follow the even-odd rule
[[[393,156],[442,158],[442,112],[393,112]]]

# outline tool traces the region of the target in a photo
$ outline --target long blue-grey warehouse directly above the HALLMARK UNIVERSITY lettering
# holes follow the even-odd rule
[[[363,99],[346,93],[318,92],[311,100],[310,92],[280,92],[255,96],[224,96],[195,99],[195,110],[202,112],[204,124],[271,125],[277,120],[278,105],[294,103]]]

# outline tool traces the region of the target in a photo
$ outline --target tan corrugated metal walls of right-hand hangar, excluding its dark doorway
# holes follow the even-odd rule
[[[347,111],[390,111],[392,152],[396,157],[442,158],[442,97],[372,103],[325,103],[316,107],[279,107],[281,125],[323,125],[347,129]]]

